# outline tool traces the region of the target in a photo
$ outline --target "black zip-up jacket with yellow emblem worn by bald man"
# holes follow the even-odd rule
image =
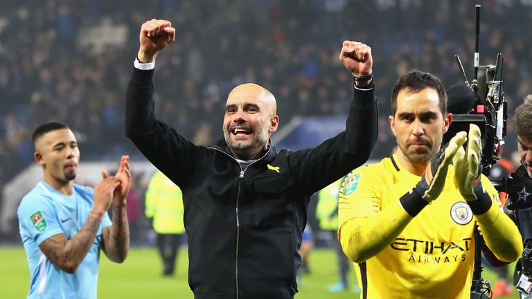
[[[375,143],[373,86],[355,89],[345,132],[297,152],[270,146],[242,169],[223,138],[196,146],[155,118],[153,76],[133,71],[125,134],[183,192],[194,298],[293,298],[310,195],[365,163]]]

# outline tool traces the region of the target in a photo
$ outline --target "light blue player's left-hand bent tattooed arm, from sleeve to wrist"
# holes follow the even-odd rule
[[[89,213],[87,221],[72,239],[67,239],[67,236],[61,233],[46,239],[39,248],[55,266],[67,273],[73,273],[91,249],[100,222],[101,219]]]

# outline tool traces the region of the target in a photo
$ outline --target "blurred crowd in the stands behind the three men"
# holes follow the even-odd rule
[[[508,112],[532,93],[532,1],[481,2],[480,64],[504,55]],[[242,82],[277,98],[281,129],[294,116],[345,114],[352,79],[338,60],[344,39],[372,47],[380,102],[378,145],[391,152],[389,93],[410,69],[463,84],[472,79],[474,1],[28,0],[0,10],[0,188],[33,162],[30,134],[60,120],[82,160],[130,154],[123,98],[141,24],[172,21],[176,40],[157,57],[157,115],[184,136],[221,136],[224,101]],[[511,21],[514,19],[514,21]],[[519,20],[516,22],[515,20]],[[519,25],[516,25],[519,24]],[[516,148],[511,122],[505,152]]]

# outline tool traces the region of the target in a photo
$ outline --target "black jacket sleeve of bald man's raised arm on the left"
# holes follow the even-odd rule
[[[134,69],[125,93],[125,136],[177,185],[194,167],[196,147],[154,114],[154,70]]]

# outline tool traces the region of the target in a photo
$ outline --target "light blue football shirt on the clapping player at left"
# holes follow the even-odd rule
[[[90,251],[75,273],[62,271],[39,249],[39,244],[53,235],[64,233],[67,239],[72,239],[89,217],[93,197],[92,188],[74,185],[73,194],[65,196],[40,181],[22,199],[17,215],[30,267],[28,298],[96,298],[102,228],[112,225],[107,213]]]

